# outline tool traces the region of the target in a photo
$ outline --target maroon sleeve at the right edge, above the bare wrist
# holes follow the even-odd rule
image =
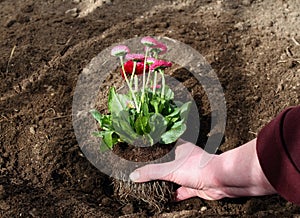
[[[300,106],[281,112],[257,137],[262,170],[278,194],[300,205]]]

